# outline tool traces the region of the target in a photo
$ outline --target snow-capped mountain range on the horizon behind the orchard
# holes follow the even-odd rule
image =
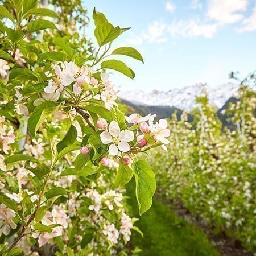
[[[121,90],[119,97],[137,106],[174,106],[178,109],[191,110],[195,105],[195,97],[199,96],[203,89],[207,89],[210,103],[221,108],[230,97],[236,94],[238,87],[237,84],[228,83],[216,87],[195,84],[171,89],[168,92],[154,90],[147,93],[143,90]]]

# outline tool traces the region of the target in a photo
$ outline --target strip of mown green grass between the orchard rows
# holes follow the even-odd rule
[[[132,216],[138,217],[134,181],[127,185],[128,200]],[[220,256],[205,233],[195,225],[178,217],[170,207],[154,198],[148,212],[144,213],[136,226],[142,230],[144,238],[133,232],[133,247],[142,249],[141,256]]]

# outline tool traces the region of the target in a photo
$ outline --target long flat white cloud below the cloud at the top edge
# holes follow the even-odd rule
[[[204,38],[212,38],[217,32],[217,24],[206,24],[199,20],[179,20],[168,26],[168,32],[171,37],[183,36],[184,38],[192,38],[203,36]]]

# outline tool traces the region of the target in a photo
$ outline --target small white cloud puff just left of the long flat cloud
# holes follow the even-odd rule
[[[147,32],[143,33],[143,39],[148,40],[150,43],[163,43],[167,38],[163,36],[167,25],[160,21],[154,21],[148,25]]]

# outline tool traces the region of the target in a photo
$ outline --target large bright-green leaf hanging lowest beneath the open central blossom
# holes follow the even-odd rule
[[[155,175],[146,161],[139,160],[134,163],[134,176],[139,214],[142,215],[152,205],[152,196],[156,189]]]

